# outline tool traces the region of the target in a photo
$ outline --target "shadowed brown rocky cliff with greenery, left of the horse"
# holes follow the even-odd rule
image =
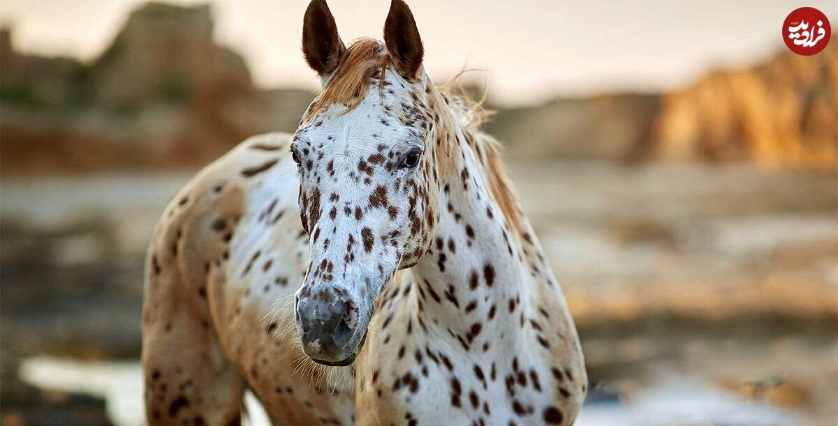
[[[0,33],[4,175],[198,167],[247,136],[292,131],[305,90],[258,90],[213,37],[209,6],[147,3],[89,64]]]

